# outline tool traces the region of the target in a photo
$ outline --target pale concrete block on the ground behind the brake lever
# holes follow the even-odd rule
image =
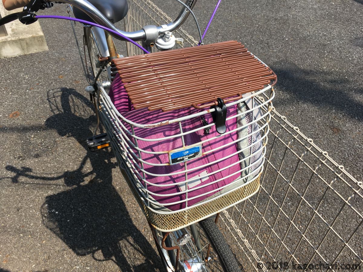
[[[0,3],[0,16],[22,11],[22,8],[7,11]],[[14,57],[48,50],[39,22],[24,25],[19,20],[0,26],[0,58]]]

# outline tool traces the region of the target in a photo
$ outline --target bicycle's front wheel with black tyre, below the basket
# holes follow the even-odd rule
[[[208,218],[182,230],[170,232],[167,236],[153,227],[152,232],[160,257],[168,272],[241,271],[232,251],[216,226],[214,218]],[[188,237],[190,239],[185,243]],[[178,248],[180,248],[179,256]],[[178,260],[178,270],[175,267],[176,260]]]

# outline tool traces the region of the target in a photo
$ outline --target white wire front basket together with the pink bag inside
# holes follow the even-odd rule
[[[273,97],[272,87],[267,86],[226,104],[231,109],[226,120],[229,128],[220,135],[213,133],[215,109],[194,109],[195,113],[174,119],[168,119],[173,116],[170,112],[152,111],[150,116],[164,120],[143,123],[146,111],[121,114],[101,89],[101,116],[112,148],[150,223],[162,231],[177,230],[256,193]],[[202,116],[208,124],[203,124]],[[204,135],[205,129],[212,133]],[[195,148],[196,158],[172,162],[170,154]]]

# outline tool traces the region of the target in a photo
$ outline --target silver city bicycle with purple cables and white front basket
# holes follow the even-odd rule
[[[24,8],[24,11],[22,13],[18,13],[1,19],[0,25],[4,22],[6,23],[9,20],[15,20],[17,18],[19,18],[19,20],[25,24],[30,24],[33,21],[37,20],[38,18],[63,18],[63,19],[66,18],[79,21],[83,24],[84,43],[87,46],[87,51],[90,58],[90,65],[93,73],[93,78],[92,77],[89,78],[87,76],[88,73],[86,72],[87,64],[82,62],[83,67],[85,68],[86,77],[90,83],[90,86],[88,86],[86,90],[90,93],[91,100],[94,103],[97,118],[99,118],[99,116],[101,117],[98,120],[102,120],[102,123],[107,131],[107,135],[95,135],[97,131],[96,128],[94,137],[92,139],[89,139],[89,145],[91,149],[95,150],[111,146],[112,149],[115,151],[115,155],[118,159],[120,169],[123,172],[127,183],[129,184],[131,190],[135,194],[136,199],[138,200],[140,206],[142,207],[145,215],[148,218],[150,228],[155,239],[156,247],[159,251],[164,267],[166,268],[167,271],[183,271],[182,269],[184,269],[184,271],[219,271],[221,269],[223,269],[223,271],[239,271],[240,268],[238,267],[238,264],[231,250],[229,249],[227,243],[225,242],[223,235],[216,226],[216,222],[218,220],[218,214],[221,210],[224,210],[228,207],[233,206],[238,202],[245,200],[246,198],[256,193],[259,188],[258,181],[259,181],[259,176],[262,172],[262,165],[264,162],[264,154],[262,153],[267,141],[268,121],[270,118],[269,112],[272,107],[271,100],[273,99],[274,96],[272,89],[273,84],[269,84],[268,87],[262,88],[260,91],[253,93],[253,95],[249,94],[247,96],[244,96],[243,98],[241,95],[237,96],[238,99],[234,97],[234,99],[230,101],[228,101],[227,99],[225,99],[225,101],[219,100],[218,101],[219,103],[217,105],[212,106],[213,107],[212,110],[208,110],[208,113],[219,112],[219,111],[223,112],[227,111],[227,107],[233,107],[233,106],[237,107],[236,105],[238,103],[247,101],[248,99],[250,100],[250,105],[252,106],[246,107],[244,109],[244,112],[239,114],[239,116],[245,116],[245,118],[246,116],[250,116],[249,118],[251,119],[244,125],[244,127],[247,128],[250,126],[250,128],[252,128],[252,132],[249,131],[247,133],[247,136],[244,137],[244,139],[246,140],[248,139],[248,137],[251,137],[252,139],[252,137],[254,136],[254,139],[251,140],[251,143],[247,144],[246,147],[242,148],[242,150],[238,152],[238,154],[240,154],[241,151],[248,148],[250,149],[248,156],[245,156],[240,161],[238,161],[238,163],[240,162],[245,163],[244,170],[243,169],[238,170],[239,171],[238,173],[241,173],[242,171],[247,171],[247,174],[243,176],[244,182],[242,184],[236,185],[236,187],[233,189],[231,188],[228,189],[227,185],[225,185],[222,188],[218,188],[215,191],[219,192],[219,190],[224,188],[227,188],[228,190],[227,192],[220,194],[218,198],[209,199],[208,202],[203,199],[204,202],[202,201],[201,203],[197,203],[196,205],[192,204],[191,206],[188,207],[188,201],[197,199],[198,197],[197,195],[194,196],[192,199],[188,199],[188,197],[186,197],[185,201],[179,201],[179,202],[177,201],[177,203],[163,203],[163,205],[158,206],[158,204],[155,203],[155,199],[153,199],[152,197],[150,197],[150,195],[148,195],[148,194],[154,194],[155,196],[157,196],[155,191],[154,192],[147,191],[147,188],[145,188],[147,186],[145,184],[142,184],[142,182],[138,183],[137,181],[135,181],[135,179],[138,176],[137,173],[138,170],[136,169],[137,167],[135,168],[135,165],[138,165],[138,162],[135,162],[135,159],[132,158],[133,155],[130,155],[129,152],[130,146],[125,145],[125,143],[127,144],[128,141],[127,137],[125,137],[126,129],[124,128],[125,125],[124,127],[122,127],[120,119],[123,118],[123,121],[133,125],[133,127],[131,127],[130,129],[130,131],[132,131],[131,137],[139,140],[139,143],[142,142],[143,140],[146,140],[146,137],[142,139],[140,139],[140,137],[136,137],[134,128],[146,129],[148,128],[148,126],[144,124],[132,123],[131,120],[127,120],[124,116],[117,114],[118,112],[117,108],[115,108],[113,103],[110,103],[111,102],[109,96],[110,92],[107,93],[107,91],[110,90],[111,81],[115,79],[114,78],[115,73],[116,74],[118,73],[117,72],[118,67],[117,64],[115,63],[116,60],[118,59],[118,55],[115,50],[113,36],[121,36],[124,40],[132,42],[134,45],[138,46],[140,49],[144,51],[151,51],[154,46],[157,46],[159,49],[162,50],[171,49],[174,47],[176,43],[181,42],[180,40],[172,36],[171,32],[177,29],[181,24],[183,24],[183,22],[186,20],[189,14],[193,15],[192,8],[197,1],[188,0],[185,4],[182,3],[183,9],[179,13],[179,16],[176,18],[176,20],[174,20],[168,25],[162,25],[158,27],[148,25],[144,26],[143,30],[138,30],[136,32],[131,32],[131,33],[123,32],[115,28],[115,26],[110,23],[110,20],[111,21],[121,20],[123,18],[122,16],[126,16],[125,12],[121,12],[120,13],[121,15],[119,14],[118,17],[112,17],[116,15],[110,15],[111,13],[108,13],[116,8],[125,11],[127,9],[125,3],[127,2],[123,2],[124,4],[121,5],[121,7],[109,7],[108,9],[106,8],[107,10],[103,9],[104,7],[102,7],[95,1],[93,4],[85,0],[67,0],[64,2],[74,5],[74,7],[68,5],[68,13],[69,14],[73,13],[76,19],[66,18],[62,16],[37,16],[35,15],[35,12],[37,12],[38,9],[49,8],[52,6],[52,4],[41,2],[38,0],[33,0],[29,3],[27,7]],[[99,10],[102,10],[102,12]],[[88,13],[88,15],[86,15],[82,11],[85,11],[86,13]],[[108,14],[108,17],[106,17],[104,14]],[[195,16],[193,15],[193,17]],[[108,32],[106,31],[103,32],[101,28],[107,30]],[[111,34],[109,32],[111,32]],[[203,44],[203,37],[200,33],[200,30],[199,34],[200,34],[199,44]],[[142,46],[136,44],[135,41],[141,41]],[[234,46],[234,45],[228,44],[228,46]],[[80,50],[79,46],[78,49]],[[79,52],[81,54],[81,50]],[[254,56],[252,57],[255,59]],[[113,61],[113,63],[111,61]],[[258,61],[262,65],[264,65],[263,62],[261,62],[260,60]],[[275,80],[274,83],[276,83],[276,75],[271,75],[271,79],[274,79]],[[266,95],[265,94],[266,92],[269,93]],[[266,100],[255,99],[254,96],[256,94],[265,96]],[[254,111],[256,110],[262,110],[264,112],[260,113],[259,115],[257,114],[255,116]],[[250,115],[248,115],[249,113]],[[213,124],[211,122],[209,123],[207,122],[206,124],[205,123],[206,120],[203,117],[204,115],[205,115],[204,111],[195,114],[195,116],[193,115],[194,117],[200,117],[202,119],[203,125],[199,128],[199,130],[204,130],[204,132],[208,134],[209,133],[208,129],[210,129],[212,125],[214,124],[217,125],[217,123],[220,122],[221,124],[217,129],[221,129],[222,131],[225,129],[226,126],[225,118],[223,126],[223,119],[221,121],[220,119],[221,116],[215,113],[213,116]],[[190,118],[190,116],[188,117]],[[233,117],[234,116],[232,116],[232,118]],[[260,126],[257,125],[256,127],[254,123],[257,124],[258,121],[261,123],[261,125]],[[183,122],[182,118],[179,119],[174,118],[170,123],[179,124],[181,130],[182,122]],[[152,124],[152,128],[159,127],[161,123],[163,122]],[[240,131],[242,129],[243,126],[239,129],[236,129],[236,131]],[[224,134],[224,133],[225,130],[224,132],[219,134]],[[121,139],[120,135],[124,136],[124,139]],[[257,137],[257,135],[259,135],[259,138]],[[176,138],[177,136],[180,135],[174,135],[171,138]],[[183,141],[183,147],[186,147],[188,145],[184,145],[183,136],[184,134],[181,131],[181,138],[182,138],[181,140]],[[240,142],[241,140],[243,140],[243,138],[241,138],[237,142]],[[137,149],[138,141],[135,140],[135,143],[133,147],[134,148],[136,147]],[[195,145],[193,145],[193,147],[195,147]],[[252,151],[253,148],[255,148],[256,150]],[[143,151],[144,150],[142,151],[138,150],[139,153]],[[212,153],[212,151],[213,149],[211,149],[209,153]],[[154,153],[157,153],[157,151]],[[196,153],[198,153],[195,155],[196,158],[201,156],[201,147],[199,151]],[[258,158],[254,158],[254,156]],[[180,160],[180,157],[176,157],[176,160],[178,163],[184,162],[185,171],[182,172],[182,174],[185,174],[185,176],[187,176],[188,173],[186,169],[187,160],[186,161]],[[143,163],[147,164],[146,161],[141,161],[141,165]],[[198,166],[197,168],[198,169],[203,168],[205,165],[201,165],[201,167]],[[234,165],[236,165],[236,163],[234,163]],[[256,167],[252,168],[252,166]],[[228,167],[231,167],[231,165],[228,165]],[[185,178],[187,179],[187,177]],[[203,178],[205,178],[205,176],[203,176],[202,174],[202,176],[200,176],[200,180],[203,180]],[[194,178],[194,180],[192,181],[197,181],[197,179]],[[191,192],[195,191],[196,188],[198,188],[198,186],[196,186],[196,188],[189,190],[189,182],[190,179],[188,182],[186,183],[184,182],[185,188],[182,191],[184,191],[185,194],[187,194],[189,191]],[[177,183],[176,185],[179,186],[181,184],[183,184],[183,182],[179,182],[179,184]],[[137,187],[138,185],[144,187],[140,189],[140,187]],[[175,217],[178,216],[180,217],[181,216],[180,213],[184,212],[183,213],[184,216],[185,212],[188,211],[189,216],[191,216],[192,214],[191,211],[196,213],[196,211],[201,209],[203,204],[223,199],[223,197],[226,195],[230,196],[227,193],[231,192],[241,194],[243,197],[238,195],[237,200],[233,199],[229,202],[227,201],[228,204],[225,204],[222,208],[218,207],[214,210],[212,209],[211,211],[208,210],[205,211],[204,214],[202,215],[198,216],[194,215],[195,217],[192,217],[191,219],[186,220],[185,218],[185,222],[178,220],[176,224],[171,226],[168,225],[167,221],[172,220],[173,215]],[[164,196],[168,195],[165,194]],[[226,202],[225,198],[223,200]],[[179,214],[170,210],[162,211],[160,207],[165,206],[166,204],[169,206],[180,204],[182,208],[177,210]],[[147,210],[150,207],[152,207],[151,210]],[[210,207],[208,207],[208,209],[210,209]],[[158,221],[162,220],[161,218],[166,218],[166,219],[164,220],[164,222],[160,223]]]

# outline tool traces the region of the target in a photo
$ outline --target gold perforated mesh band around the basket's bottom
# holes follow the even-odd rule
[[[160,231],[174,231],[176,229],[188,226],[201,218],[208,217],[218,213],[227,207],[241,201],[242,199],[252,196],[260,188],[260,175],[254,179],[252,182],[242,186],[241,188],[232,191],[229,194],[223,195],[222,197],[216,198],[210,202],[204,203],[200,206],[193,207],[185,211],[176,211],[172,214],[158,214],[154,213],[140,199],[139,194],[136,192],[134,186],[132,185],[129,176],[126,174],[125,170],[121,168],[121,172],[125,177],[127,184],[129,185],[132,193],[134,194],[136,200],[138,201],[140,207],[142,208],[146,219],[150,222],[156,229]]]

